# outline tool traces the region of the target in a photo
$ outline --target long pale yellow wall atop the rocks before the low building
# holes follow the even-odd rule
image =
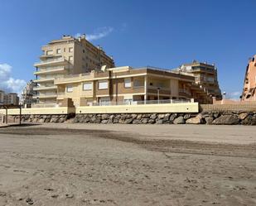
[[[75,113],[198,113],[198,103],[78,107]]]

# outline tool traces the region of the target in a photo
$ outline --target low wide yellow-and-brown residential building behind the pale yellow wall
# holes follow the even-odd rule
[[[72,99],[74,105],[108,105],[142,103],[171,99],[211,103],[212,98],[191,74],[152,67],[133,69],[128,66],[94,70],[85,74],[55,79],[57,103]]]

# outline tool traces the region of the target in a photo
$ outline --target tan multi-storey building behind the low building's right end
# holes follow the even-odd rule
[[[205,89],[205,92],[211,95],[216,100],[222,99],[219,83],[218,72],[215,65],[210,65],[194,60],[190,64],[181,65],[174,69],[183,74],[193,74],[196,84],[199,84]]]

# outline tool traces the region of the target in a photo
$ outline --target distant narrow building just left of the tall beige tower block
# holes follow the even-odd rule
[[[33,103],[36,103],[36,99],[33,98],[33,96],[35,95],[35,87],[36,83],[34,83],[33,80],[30,80],[23,89],[21,95],[21,103],[23,108],[31,108],[31,105]]]

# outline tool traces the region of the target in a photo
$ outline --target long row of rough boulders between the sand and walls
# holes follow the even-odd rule
[[[12,116],[19,118],[18,116]],[[73,118],[74,117],[74,118]],[[73,118],[73,119],[70,119]],[[256,125],[256,112],[23,115],[23,122]]]

